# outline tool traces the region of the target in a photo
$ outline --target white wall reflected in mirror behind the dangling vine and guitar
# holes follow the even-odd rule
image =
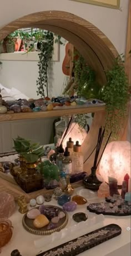
[[[58,96],[61,93],[64,81],[62,62],[65,55],[65,47],[63,45],[60,47],[59,61],[52,61],[49,69],[49,96]],[[0,83],[8,88],[17,88],[29,98],[39,98],[36,92],[37,64],[37,61],[2,61]]]

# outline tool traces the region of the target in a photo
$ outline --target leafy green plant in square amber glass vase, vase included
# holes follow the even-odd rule
[[[26,163],[26,171],[20,172],[16,178],[18,185],[27,193],[42,189],[43,178],[37,172],[36,166],[39,158],[44,155],[43,146],[39,146],[39,143],[31,143],[31,141],[18,137],[14,140],[14,148],[21,154],[21,157]]]

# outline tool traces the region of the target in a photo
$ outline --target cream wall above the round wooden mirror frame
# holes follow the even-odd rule
[[[0,27],[29,13],[67,11],[97,26],[113,42],[120,53],[125,49],[129,0],[120,0],[122,11],[70,0],[1,0]]]

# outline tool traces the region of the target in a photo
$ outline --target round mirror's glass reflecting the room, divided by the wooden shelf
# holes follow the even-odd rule
[[[85,103],[100,103],[96,99],[102,99],[92,68],[59,35],[23,28],[1,41],[0,53],[0,100],[10,114],[52,110],[63,105],[77,108]],[[79,136],[82,143],[92,119],[93,113],[75,115],[66,141]],[[1,122],[0,153],[12,151],[12,138],[18,135],[41,144],[57,144],[69,120],[70,116]]]

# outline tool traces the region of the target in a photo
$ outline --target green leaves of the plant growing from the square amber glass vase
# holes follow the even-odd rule
[[[35,163],[39,158],[44,156],[43,146],[39,146],[39,143],[31,143],[31,141],[19,136],[18,138],[13,139],[13,142],[13,148],[17,153],[23,156],[28,163]]]

